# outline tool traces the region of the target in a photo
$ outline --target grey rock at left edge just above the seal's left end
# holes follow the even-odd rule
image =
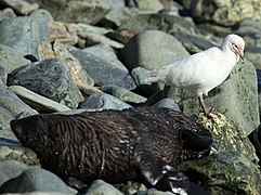
[[[18,115],[25,117],[38,114],[5,87],[0,87],[0,105],[8,109],[14,117]]]

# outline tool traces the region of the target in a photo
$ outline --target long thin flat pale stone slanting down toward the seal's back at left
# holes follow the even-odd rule
[[[60,104],[55,101],[47,99],[42,95],[39,95],[22,86],[10,86],[9,89],[18,95],[24,102],[29,106],[40,109],[41,112],[63,112],[70,110],[69,107]]]

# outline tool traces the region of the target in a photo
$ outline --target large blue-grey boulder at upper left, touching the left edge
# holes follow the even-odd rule
[[[18,16],[0,22],[0,43],[13,48],[22,56],[38,57],[38,44],[49,40],[48,22],[44,18]]]

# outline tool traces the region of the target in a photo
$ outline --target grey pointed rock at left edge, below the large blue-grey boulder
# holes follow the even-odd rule
[[[30,63],[30,61],[18,55],[14,49],[5,44],[0,44],[0,62],[8,74],[22,65]]]

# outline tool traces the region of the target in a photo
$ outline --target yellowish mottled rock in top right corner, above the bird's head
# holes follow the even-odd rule
[[[239,1],[210,1],[203,3],[200,0],[186,1],[192,16],[197,22],[211,22],[221,26],[233,26],[244,18],[261,20],[261,1],[239,0]]]

